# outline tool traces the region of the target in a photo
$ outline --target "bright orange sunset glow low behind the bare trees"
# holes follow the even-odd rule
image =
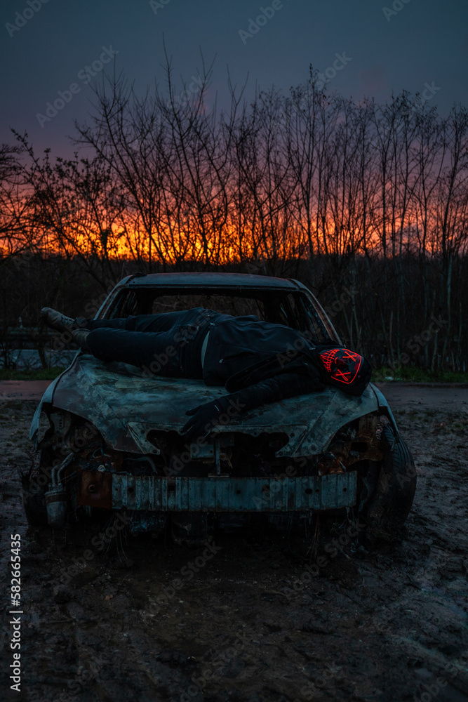
[[[109,260],[152,260],[173,264],[182,260],[215,260],[220,265],[236,263],[240,260],[258,260],[263,258],[309,258],[312,242],[314,255],[333,253],[342,255],[350,253],[375,253],[382,251],[383,223],[381,216],[368,225],[366,232],[359,226],[351,226],[351,216],[342,216],[347,226],[337,226],[334,218],[321,221],[319,227],[311,227],[307,232],[305,222],[296,222],[286,226],[281,218],[276,218],[274,228],[266,232],[260,226],[253,231],[239,230],[238,218],[232,218],[236,225],[223,225],[220,230],[196,226],[193,219],[186,227],[178,223],[154,227],[152,237],[143,227],[139,218],[131,218],[121,213],[105,230],[98,229],[89,216],[80,218],[73,213],[74,222],[57,223],[51,227],[34,229],[34,239],[18,237],[7,242],[7,237],[0,239],[2,256],[13,255],[15,251],[37,251],[45,256],[62,254],[67,257],[75,255]],[[80,221],[81,219],[81,221]],[[87,221],[86,221],[87,220]],[[440,213],[429,213],[425,225],[424,250],[435,253],[441,249],[438,242],[440,230]],[[393,216],[387,222],[385,247],[387,256],[399,255],[401,251],[410,250],[422,239],[417,216],[406,216],[404,220]],[[3,246],[2,246],[3,244]]]

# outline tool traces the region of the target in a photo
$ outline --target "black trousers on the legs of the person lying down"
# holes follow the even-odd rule
[[[202,378],[201,346],[213,310],[138,314],[119,319],[86,319],[86,343],[93,356],[121,361],[159,376]]]

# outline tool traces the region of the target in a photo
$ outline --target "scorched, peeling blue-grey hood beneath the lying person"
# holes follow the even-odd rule
[[[136,366],[79,355],[46,390],[30,436],[36,437],[41,409],[47,404],[93,423],[113,449],[155,453],[154,444],[146,438],[149,430],[180,431],[188,409],[220,395],[226,395],[225,388],[208,387],[203,380],[145,376]],[[342,425],[376,411],[381,404],[373,385],[360,397],[326,388],[239,413],[219,430],[253,436],[285,432],[289,440],[277,456],[312,455],[324,451]]]

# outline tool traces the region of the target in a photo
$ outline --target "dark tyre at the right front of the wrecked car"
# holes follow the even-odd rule
[[[366,537],[371,543],[399,540],[416,491],[413,456],[390,424],[382,431],[382,444],[385,455],[366,505]]]

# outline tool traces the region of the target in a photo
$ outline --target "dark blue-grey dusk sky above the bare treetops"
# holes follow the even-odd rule
[[[227,67],[236,84],[248,77],[250,98],[255,84],[288,93],[311,63],[328,69],[329,91],[355,100],[382,102],[406,88],[441,114],[453,102],[468,105],[468,5],[460,0],[17,0],[0,13],[0,141],[12,143],[14,127],[36,151],[51,147],[57,156],[72,154],[67,135],[74,119],[86,119],[91,81],[112,71],[111,57],[137,91],[163,84],[163,36],[180,89],[181,74],[187,82],[198,76],[200,48],[207,64],[215,59],[208,100],[218,93],[221,107]],[[62,104],[59,91],[62,109],[41,118],[47,103]]]

